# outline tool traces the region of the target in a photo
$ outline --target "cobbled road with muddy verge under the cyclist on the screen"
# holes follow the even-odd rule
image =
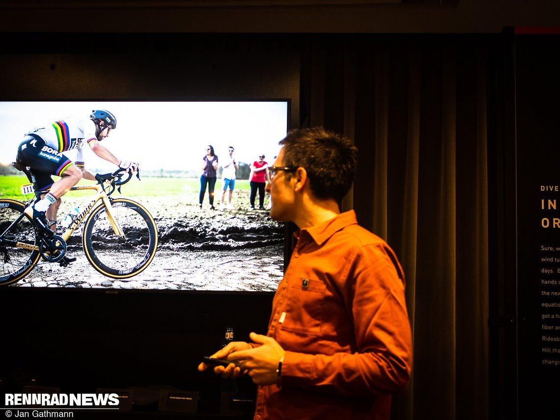
[[[39,263],[12,287],[276,290],[283,276],[284,226],[267,211],[250,210],[246,204],[212,211],[208,204],[200,210],[192,201],[138,201],[151,212],[159,237],[155,258],[142,273],[120,280],[98,273],[83,253],[80,226],[68,240],[68,255],[76,262],[68,267]]]

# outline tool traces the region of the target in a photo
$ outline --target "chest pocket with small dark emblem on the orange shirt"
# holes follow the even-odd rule
[[[281,328],[317,335],[321,331],[326,284],[320,280],[300,278],[288,287],[286,315]]]

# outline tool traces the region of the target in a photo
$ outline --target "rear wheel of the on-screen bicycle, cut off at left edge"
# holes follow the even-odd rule
[[[25,204],[7,198],[0,199],[0,235],[2,239],[29,245],[39,245],[31,219],[25,215],[9,232],[7,228],[24,211]],[[39,260],[39,251],[16,248],[0,241],[0,286],[17,282],[27,276]]]

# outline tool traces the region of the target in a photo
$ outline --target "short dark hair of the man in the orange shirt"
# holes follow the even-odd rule
[[[356,176],[358,149],[348,138],[316,127],[292,130],[279,144],[284,166],[304,167],[316,197],[342,200]]]

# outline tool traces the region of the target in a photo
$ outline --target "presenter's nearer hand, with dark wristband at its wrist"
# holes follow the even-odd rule
[[[248,371],[255,384],[276,384],[279,380],[278,362],[284,357],[284,349],[272,337],[255,333],[251,333],[249,337],[260,346],[229,352],[228,360],[240,362],[240,368],[238,369]],[[228,366],[228,368],[231,366]]]

